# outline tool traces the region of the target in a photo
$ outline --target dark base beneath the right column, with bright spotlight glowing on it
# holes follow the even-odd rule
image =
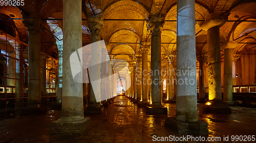
[[[207,101],[204,105],[204,113],[231,114],[228,104],[222,100]]]

